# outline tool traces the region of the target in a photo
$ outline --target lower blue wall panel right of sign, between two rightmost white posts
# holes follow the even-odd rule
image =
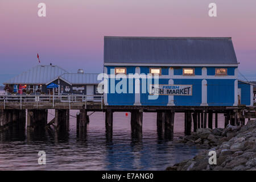
[[[233,79],[207,79],[207,103],[209,106],[233,106]]]

